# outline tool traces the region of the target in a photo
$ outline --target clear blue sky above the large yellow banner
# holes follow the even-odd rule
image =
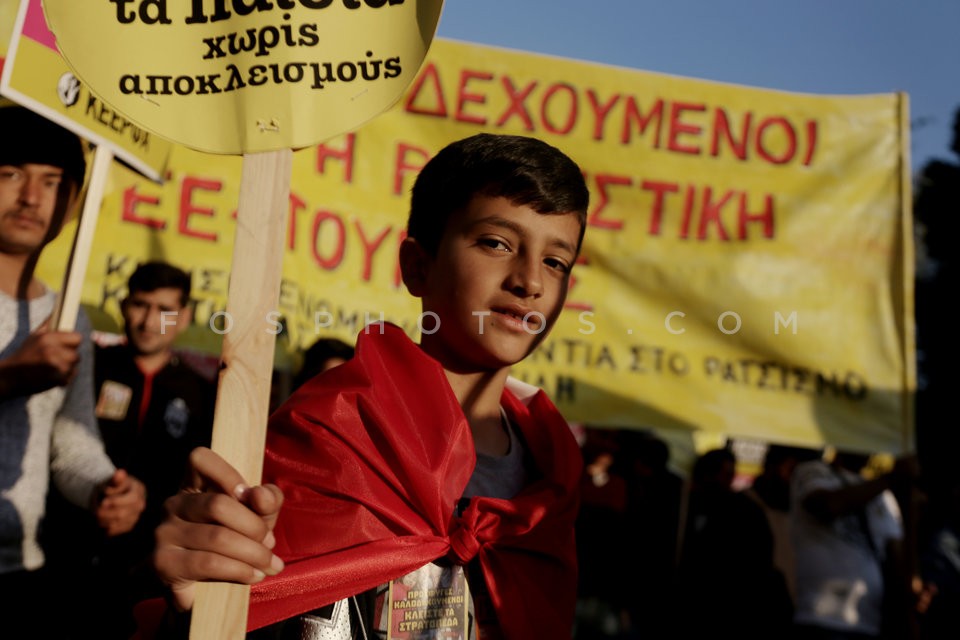
[[[960,0],[446,0],[437,35],[784,91],[906,91],[914,169],[956,160]]]

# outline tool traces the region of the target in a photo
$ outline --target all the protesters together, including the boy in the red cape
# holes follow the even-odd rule
[[[583,173],[559,149],[478,134],[424,166],[399,262],[437,330],[319,339],[271,401],[250,487],[208,448],[215,382],[174,348],[188,266],[137,265],[117,344],[95,344],[82,310],[75,330],[50,326],[56,295],[34,269],[77,203],[84,150],[22,107],[0,108],[0,129],[5,637],[186,638],[200,581],[252,585],[251,638],[960,628],[960,483],[925,492],[916,456],[877,472],[864,452],[772,445],[736,489],[727,448],[684,477],[649,433],[578,443],[510,377],[559,316],[586,229]],[[452,585],[469,606],[447,606]],[[51,599],[62,618],[39,620]]]

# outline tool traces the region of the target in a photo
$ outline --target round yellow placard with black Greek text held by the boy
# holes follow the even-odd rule
[[[44,0],[77,77],[144,129],[221,154],[298,149],[389,108],[442,0]]]

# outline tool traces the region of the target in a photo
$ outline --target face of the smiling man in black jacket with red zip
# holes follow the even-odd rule
[[[127,342],[140,355],[168,351],[173,341],[190,324],[190,309],[181,306],[182,292],[176,287],[135,291],[123,301]]]

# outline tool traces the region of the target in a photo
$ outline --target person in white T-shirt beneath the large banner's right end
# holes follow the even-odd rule
[[[909,638],[901,510],[892,490],[916,482],[914,456],[872,479],[870,456],[840,451],[797,466],[791,487],[795,620],[801,640]]]

